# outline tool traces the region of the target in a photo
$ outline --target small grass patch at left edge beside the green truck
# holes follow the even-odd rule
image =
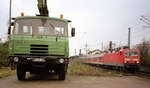
[[[9,67],[0,68],[0,78],[16,74],[16,70],[11,70]]]

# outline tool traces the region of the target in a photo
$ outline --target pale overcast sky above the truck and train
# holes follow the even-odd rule
[[[0,38],[7,34],[10,0],[0,0]],[[128,28],[131,27],[131,45],[143,38],[149,39],[150,28],[140,18],[150,17],[150,0],[47,0],[49,15],[72,20],[76,36],[70,38],[70,55],[79,53],[87,43],[93,49],[101,49],[109,41],[127,45]],[[37,0],[12,0],[12,17],[38,14]],[[149,19],[150,20],[150,19]],[[71,29],[71,28],[70,28]]]

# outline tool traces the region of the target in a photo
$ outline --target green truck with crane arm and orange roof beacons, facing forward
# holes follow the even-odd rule
[[[65,80],[69,64],[70,20],[49,17],[46,0],[38,0],[40,15],[13,18],[8,28],[9,61],[11,69],[17,71],[18,80],[30,74],[56,73]],[[13,30],[11,30],[13,26]],[[12,31],[12,33],[11,33]],[[71,29],[75,36],[75,28]]]

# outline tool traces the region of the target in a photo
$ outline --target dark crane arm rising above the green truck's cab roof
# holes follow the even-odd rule
[[[49,11],[47,9],[47,0],[37,0],[38,1],[38,9],[39,9],[39,13],[40,16],[48,16],[49,15]]]

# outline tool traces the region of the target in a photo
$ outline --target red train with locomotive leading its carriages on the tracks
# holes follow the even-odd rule
[[[140,66],[140,51],[137,49],[120,49],[109,53],[100,53],[84,58],[84,62],[118,70],[135,71]]]

